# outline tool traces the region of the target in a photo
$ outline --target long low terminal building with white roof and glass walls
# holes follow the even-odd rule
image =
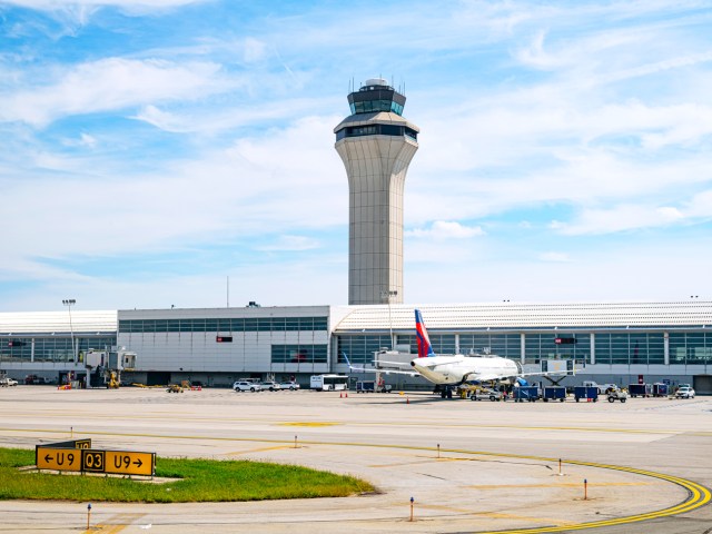
[[[437,354],[495,354],[530,372],[574,360],[578,370],[564,378],[567,386],[669,380],[712,394],[709,301],[417,307]],[[406,305],[75,310],[71,319],[62,312],[0,314],[0,373],[57,383],[70,372],[86,374],[90,348],[119,346],[137,354],[125,382],[227,387],[249,377],[307,386],[310,375],[348,373],[344,354],[368,366],[382,349],[417,353],[414,307]],[[385,379],[396,388],[432,388],[422,377]]]

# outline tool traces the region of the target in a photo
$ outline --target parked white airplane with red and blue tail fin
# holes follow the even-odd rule
[[[442,386],[442,396],[452,396],[452,386],[463,383],[482,383],[491,380],[516,380],[520,385],[527,385],[524,376],[546,376],[561,375],[562,373],[523,373],[522,365],[513,359],[503,358],[501,356],[465,356],[462,354],[437,356],[431,345],[431,338],[427,335],[425,323],[421,310],[415,310],[415,330],[418,345],[418,357],[411,362],[411,366],[415,370],[405,369],[386,369],[354,367],[346,359],[349,369],[366,373],[384,373],[384,374],[404,374],[416,376],[421,375],[433,384]],[[345,355],[346,356],[346,355]],[[383,364],[393,366],[403,366],[402,362],[384,362],[378,360],[377,365]]]

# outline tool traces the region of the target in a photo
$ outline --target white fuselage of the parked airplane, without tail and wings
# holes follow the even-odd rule
[[[512,359],[500,356],[431,356],[411,362],[415,370],[433,384],[496,380],[516,376],[521,370]]]

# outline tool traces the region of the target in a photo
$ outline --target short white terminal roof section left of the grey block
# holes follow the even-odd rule
[[[0,334],[91,333],[116,334],[118,314],[113,312],[21,312],[0,314]]]

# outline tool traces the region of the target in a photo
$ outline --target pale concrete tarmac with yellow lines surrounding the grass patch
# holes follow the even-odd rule
[[[18,386],[0,390],[0,413],[2,446],[90,437],[93,448],[299,464],[355,475],[378,488],[346,498],[260,503],[92,503],[88,532],[595,526],[602,533],[712,533],[705,504],[705,487],[712,487],[712,399],[706,397],[515,404],[443,400],[425,393],[344,397],[309,390],[170,394]],[[86,508],[87,503],[0,502],[0,532],[85,532]]]

